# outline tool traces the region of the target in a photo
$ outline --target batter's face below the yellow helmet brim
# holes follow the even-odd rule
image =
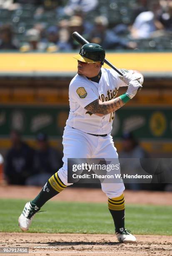
[[[77,73],[79,75],[84,75],[86,77],[95,77],[99,74],[101,69],[100,62],[86,63],[82,61],[77,61]]]

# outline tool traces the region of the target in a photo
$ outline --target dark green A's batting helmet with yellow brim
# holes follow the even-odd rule
[[[82,62],[102,62],[105,60],[105,50],[99,44],[84,44],[80,53],[74,56],[75,59]]]

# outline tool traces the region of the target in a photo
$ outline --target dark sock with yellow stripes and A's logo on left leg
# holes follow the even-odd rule
[[[59,194],[67,186],[61,181],[57,172],[50,177],[47,183],[44,185],[40,193],[32,200],[31,205],[42,207],[48,200],[55,195]]]

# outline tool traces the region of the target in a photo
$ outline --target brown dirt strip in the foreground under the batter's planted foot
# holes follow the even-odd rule
[[[3,246],[29,247],[32,256],[172,255],[171,236],[137,236],[137,243],[125,244],[118,243],[113,235],[0,233],[0,247]]]

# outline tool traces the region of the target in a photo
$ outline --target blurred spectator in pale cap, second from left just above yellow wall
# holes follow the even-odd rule
[[[40,42],[40,31],[30,28],[26,32],[26,42],[20,47],[20,51],[45,51],[46,44]]]

